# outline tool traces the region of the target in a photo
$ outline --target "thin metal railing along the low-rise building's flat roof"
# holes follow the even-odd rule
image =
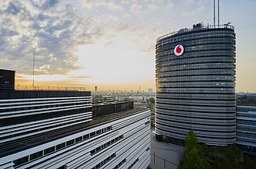
[[[52,91],[85,91],[85,87],[66,86],[31,86],[0,84],[0,90],[52,90]]]

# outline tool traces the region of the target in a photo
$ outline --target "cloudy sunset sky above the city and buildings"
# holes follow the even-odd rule
[[[256,1],[220,0],[236,31],[236,92],[256,93]],[[16,85],[155,90],[157,37],[213,24],[211,0],[0,1],[0,69]]]

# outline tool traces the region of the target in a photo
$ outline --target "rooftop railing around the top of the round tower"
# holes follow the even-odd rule
[[[164,39],[165,37],[171,37],[172,35],[178,34],[178,33],[186,33],[186,32],[191,32],[195,30],[208,30],[208,29],[218,29],[218,28],[227,28],[227,29],[232,29],[235,30],[235,26],[224,24],[224,25],[207,25],[207,26],[196,26],[193,28],[184,28],[178,31],[173,31],[171,33],[164,34],[161,37],[157,38],[157,43],[159,40]]]

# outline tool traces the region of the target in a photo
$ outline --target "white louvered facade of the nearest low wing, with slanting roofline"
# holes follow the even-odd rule
[[[0,159],[2,168],[147,168],[150,111],[106,121]],[[5,167],[3,167],[5,166]]]

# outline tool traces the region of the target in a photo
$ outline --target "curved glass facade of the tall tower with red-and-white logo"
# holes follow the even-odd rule
[[[200,143],[236,141],[233,26],[170,33],[156,44],[156,132],[182,145],[189,130]],[[176,56],[181,44],[184,53]]]

